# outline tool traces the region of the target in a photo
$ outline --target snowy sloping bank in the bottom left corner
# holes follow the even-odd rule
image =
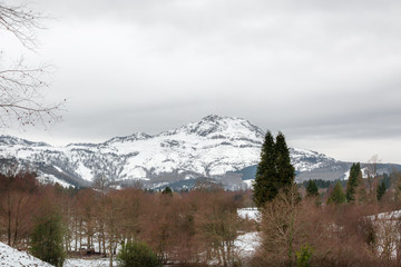
[[[17,249],[0,243],[0,267],[51,267],[47,264],[27,253],[18,251]]]

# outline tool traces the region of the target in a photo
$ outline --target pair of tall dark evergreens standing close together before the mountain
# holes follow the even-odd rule
[[[295,169],[291,165],[290,150],[285,137],[280,132],[274,142],[271,131],[267,131],[262,146],[261,161],[257,165],[254,202],[262,207],[271,201],[282,188],[294,182]]]

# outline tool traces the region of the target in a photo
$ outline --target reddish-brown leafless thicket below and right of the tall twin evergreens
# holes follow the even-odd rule
[[[286,257],[288,251],[290,212],[285,199],[276,199],[266,206],[262,221],[263,244],[256,253],[252,266],[291,266],[295,256]],[[393,226],[381,231],[371,215],[378,214],[376,205],[329,205],[317,206],[313,200],[304,199],[293,211],[293,251],[306,244],[313,248],[311,266],[397,266],[397,260],[378,240],[392,241],[400,235],[393,222],[384,221],[380,227]],[[392,233],[392,234],[391,234]],[[398,233],[398,234],[397,234]],[[381,236],[380,236],[381,235]],[[395,236],[394,236],[395,235]],[[379,253],[382,251],[382,253]],[[388,250],[389,251],[389,250]]]

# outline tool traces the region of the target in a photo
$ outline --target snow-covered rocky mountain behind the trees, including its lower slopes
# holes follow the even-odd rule
[[[194,186],[211,178],[227,188],[244,187],[260,160],[265,132],[250,121],[211,115],[198,122],[156,136],[137,132],[101,144],[53,147],[0,137],[0,171],[30,169],[43,182],[89,186],[97,177],[147,188]],[[297,180],[343,178],[350,164],[322,154],[291,148]]]

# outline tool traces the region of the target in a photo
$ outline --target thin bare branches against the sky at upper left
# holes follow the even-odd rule
[[[0,33],[11,32],[28,50],[36,47],[35,32],[43,29],[43,16],[27,4],[7,6],[0,2]],[[10,66],[0,61],[0,123],[17,121],[20,126],[48,125],[58,120],[61,102],[47,105],[40,89],[48,87],[45,75],[49,66],[28,67],[21,57]]]

